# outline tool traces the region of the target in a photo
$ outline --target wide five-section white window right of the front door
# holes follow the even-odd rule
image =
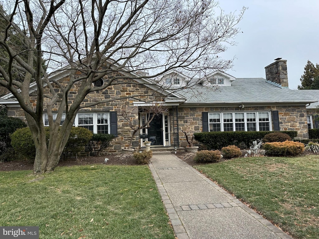
[[[270,112],[209,112],[209,131],[271,131]]]

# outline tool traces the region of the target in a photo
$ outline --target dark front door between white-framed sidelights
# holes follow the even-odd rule
[[[163,145],[163,116],[155,115],[148,128],[148,140],[151,145]]]

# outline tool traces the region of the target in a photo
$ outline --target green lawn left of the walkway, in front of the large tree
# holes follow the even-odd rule
[[[0,172],[1,226],[39,226],[40,238],[174,239],[147,166],[58,167],[28,183],[31,173]]]

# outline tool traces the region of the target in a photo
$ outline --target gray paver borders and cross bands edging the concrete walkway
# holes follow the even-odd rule
[[[277,235],[281,239],[292,239],[289,235],[287,235],[283,230],[280,228],[274,226],[270,221],[264,219],[261,215],[257,214],[254,210],[249,208],[247,205],[243,204],[240,200],[236,199],[234,196],[226,192],[224,189],[220,188],[218,185],[216,185],[214,182],[212,182],[209,178],[205,177],[203,174],[198,172],[195,168],[190,167],[189,164],[182,161],[180,158],[178,158],[175,155],[172,155],[174,158],[176,158],[179,163],[182,163],[185,165],[184,167],[171,167],[171,168],[156,168],[157,170],[179,170],[179,169],[189,169],[196,173],[199,177],[201,177],[204,181],[209,183],[211,186],[213,186],[215,189],[217,189],[220,193],[225,195],[228,199],[231,200],[231,202],[224,202],[224,203],[211,203],[211,204],[198,204],[198,205],[183,205],[183,206],[173,206],[172,201],[169,198],[169,195],[167,194],[167,191],[165,187],[163,186],[162,181],[159,178],[159,175],[157,174],[155,167],[153,166],[152,162],[149,163],[149,168],[152,172],[153,178],[156,182],[156,186],[158,188],[159,194],[161,195],[163,204],[165,206],[165,209],[167,211],[168,217],[171,221],[171,224],[173,226],[175,235],[178,239],[189,239],[189,235],[186,233],[186,230],[182,224],[182,221],[180,220],[177,212],[182,211],[195,211],[195,210],[211,210],[211,209],[219,209],[219,208],[227,208],[227,207],[240,207],[245,212],[250,214],[253,218],[255,218],[257,221],[259,221],[261,224],[263,224],[265,227],[267,227],[269,230],[271,230],[275,235]]]

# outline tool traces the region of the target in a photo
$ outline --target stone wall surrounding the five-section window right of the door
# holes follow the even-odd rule
[[[306,106],[259,106],[245,107],[242,110],[238,109],[238,107],[179,107],[179,134],[181,147],[187,146],[186,138],[182,133],[181,128],[186,127],[190,121],[195,121],[194,130],[196,132],[203,132],[202,112],[214,111],[248,112],[278,110],[280,130],[296,130],[298,131],[297,137],[308,138]],[[273,128],[273,121],[271,123]]]

